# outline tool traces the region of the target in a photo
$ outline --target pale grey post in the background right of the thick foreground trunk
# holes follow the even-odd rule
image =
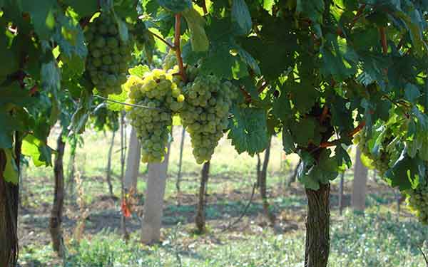
[[[361,162],[361,150],[357,147],[355,155],[354,182],[352,184],[351,203],[356,211],[364,211],[367,187],[367,168]]]

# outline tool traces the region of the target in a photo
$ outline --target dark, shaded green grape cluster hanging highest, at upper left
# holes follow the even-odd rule
[[[101,95],[119,94],[126,82],[131,45],[121,40],[113,16],[101,14],[85,32],[88,43],[86,69]]]

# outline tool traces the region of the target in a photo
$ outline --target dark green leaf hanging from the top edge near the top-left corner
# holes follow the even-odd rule
[[[49,40],[55,27],[56,1],[24,1],[22,9],[30,14],[31,21],[34,24],[34,31],[36,31],[39,38]]]

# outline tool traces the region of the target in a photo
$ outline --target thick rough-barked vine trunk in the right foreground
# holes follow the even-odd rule
[[[305,267],[326,267],[330,253],[330,184],[306,189]]]

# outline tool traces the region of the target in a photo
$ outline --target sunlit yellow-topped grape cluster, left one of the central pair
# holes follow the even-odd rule
[[[143,78],[131,75],[123,85],[128,103],[146,107],[128,108],[128,118],[141,140],[143,162],[163,161],[172,117],[183,108],[184,95],[172,82],[171,73],[155,69]]]

